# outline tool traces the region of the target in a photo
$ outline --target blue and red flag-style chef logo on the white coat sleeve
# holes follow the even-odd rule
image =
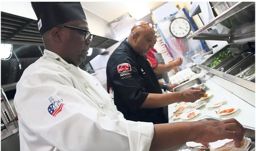
[[[49,97],[49,101],[51,104],[48,107],[48,112],[55,117],[62,110],[62,107],[65,104],[62,103],[62,99],[55,101],[52,97]]]

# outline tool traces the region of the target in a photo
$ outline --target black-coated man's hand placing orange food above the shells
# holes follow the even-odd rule
[[[180,91],[180,93],[183,102],[195,102],[204,97],[205,90],[200,90],[199,88],[189,88]]]

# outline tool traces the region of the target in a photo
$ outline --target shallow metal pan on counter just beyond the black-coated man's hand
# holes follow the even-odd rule
[[[194,88],[202,87],[205,89],[205,81],[203,81],[201,78],[196,78],[194,80],[187,81],[187,82],[173,88],[173,92],[179,92],[184,89],[191,88],[191,87],[194,87]]]

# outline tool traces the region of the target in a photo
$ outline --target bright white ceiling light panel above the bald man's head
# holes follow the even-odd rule
[[[125,2],[125,4],[129,14],[136,20],[139,20],[151,13],[147,2]]]

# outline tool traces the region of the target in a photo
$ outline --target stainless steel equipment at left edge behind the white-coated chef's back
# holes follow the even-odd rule
[[[1,141],[18,132],[18,123],[15,113],[1,88]],[[11,122],[13,121],[13,122]]]

